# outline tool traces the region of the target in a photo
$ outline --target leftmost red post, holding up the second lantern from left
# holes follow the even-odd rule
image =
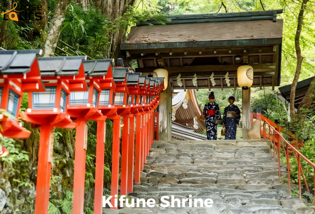
[[[35,213],[48,214],[52,150],[54,146],[54,127],[49,124],[41,126],[38,150],[37,184],[35,196]]]

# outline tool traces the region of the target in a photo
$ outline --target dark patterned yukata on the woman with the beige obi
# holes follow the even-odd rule
[[[228,111],[235,111],[238,117],[226,117]],[[223,123],[225,126],[225,139],[235,140],[236,139],[236,126],[239,124],[239,119],[241,117],[241,112],[236,105],[229,105],[225,107],[223,113]]]

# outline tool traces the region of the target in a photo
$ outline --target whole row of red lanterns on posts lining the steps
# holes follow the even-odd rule
[[[122,59],[86,60],[86,56],[38,57],[41,50],[0,51],[1,108],[15,116],[2,116],[4,136],[27,138],[18,123],[23,92],[28,109],[21,115],[40,128],[35,214],[48,213],[53,128],[76,128],[73,213],[83,213],[87,120],[97,120],[95,213],[102,212],[105,120],[113,120],[112,194],[118,194],[119,132],[123,117],[121,194],[132,192],[153,143],[153,112],[164,88],[164,78],[130,73]],[[136,118],[136,137],[134,135]],[[76,123],[73,122],[76,120]],[[136,138],[136,139],[135,139]],[[136,141],[136,157],[134,143]]]

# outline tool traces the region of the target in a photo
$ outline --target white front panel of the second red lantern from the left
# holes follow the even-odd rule
[[[33,92],[33,109],[54,109],[56,91],[56,86],[50,86],[46,87],[45,92]]]

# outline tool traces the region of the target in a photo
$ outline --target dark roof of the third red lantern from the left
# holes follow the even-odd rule
[[[83,61],[85,76],[105,76],[114,59],[97,59]]]

